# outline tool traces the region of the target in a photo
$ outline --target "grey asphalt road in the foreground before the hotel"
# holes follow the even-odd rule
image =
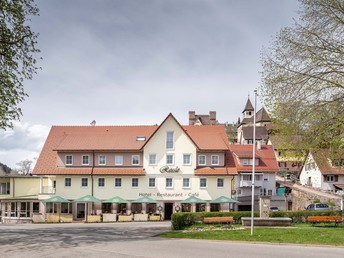
[[[0,257],[336,258],[344,248],[166,239],[170,222],[0,224]]]

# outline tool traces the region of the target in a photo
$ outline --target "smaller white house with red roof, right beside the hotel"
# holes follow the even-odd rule
[[[253,160],[252,145],[231,145],[228,163],[235,167],[238,175],[236,177],[236,199],[238,210],[251,210],[252,199],[252,167],[255,164],[255,209],[258,207],[260,196],[276,195],[276,173],[278,165],[272,146],[258,145]]]

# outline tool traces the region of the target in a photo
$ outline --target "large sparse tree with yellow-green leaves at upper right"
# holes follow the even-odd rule
[[[260,96],[292,147],[344,145],[344,2],[300,0],[299,21],[262,52]],[[299,144],[299,146],[296,146]]]

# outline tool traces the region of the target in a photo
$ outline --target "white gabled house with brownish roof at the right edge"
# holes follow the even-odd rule
[[[310,152],[299,175],[300,184],[329,192],[344,190],[344,149]]]

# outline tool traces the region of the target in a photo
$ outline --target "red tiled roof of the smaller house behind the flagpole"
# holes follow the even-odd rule
[[[235,144],[230,146],[231,153],[234,155],[233,160],[238,172],[252,172],[252,166],[241,166],[236,156],[237,153],[252,153],[252,145]],[[271,145],[263,145],[261,149],[256,148],[257,158],[259,158],[259,165],[255,166],[255,171],[259,172],[278,172],[278,164],[274,149]],[[252,157],[253,155],[251,155]]]

